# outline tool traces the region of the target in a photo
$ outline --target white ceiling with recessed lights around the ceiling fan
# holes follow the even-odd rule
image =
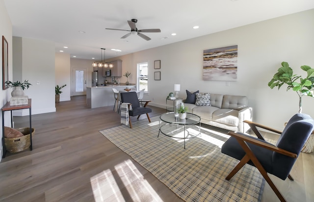
[[[13,36],[49,40],[55,51],[101,60],[314,8],[314,0],[4,0]],[[120,39],[138,29],[159,28]],[[193,29],[198,25],[199,29]],[[293,27],[291,27],[293,29]],[[79,33],[84,31],[85,33]],[[176,33],[176,36],[172,36]],[[168,37],[167,39],[162,39]],[[68,46],[68,48],[63,48]],[[115,52],[111,48],[120,49]],[[104,58],[103,58],[104,59]]]

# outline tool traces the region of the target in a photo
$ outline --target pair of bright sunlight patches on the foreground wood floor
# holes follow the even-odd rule
[[[110,170],[105,170],[90,179],[95,202],[130,201],[126,197],[130,197],[131,201],[143,201],[143,199],[145,201],[162,201],[130,159],[115,165],[114,168],[118,180]],[[117,181],[122,181],[123,184]],[[123,194],[122,189],[126,189],[128,193]]]

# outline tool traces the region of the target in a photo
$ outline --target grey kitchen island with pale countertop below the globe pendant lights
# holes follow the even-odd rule
[[[86,87],[86,103],[88,108],[98,108],[105,106],[113,106],[115,103],[113,88],[116,90],[124,90],[125,88],[135,87],[135,85],[107,85]]]

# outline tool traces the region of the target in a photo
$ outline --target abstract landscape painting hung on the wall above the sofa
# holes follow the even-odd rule
[[[236,81],[237,45],[204,50],[203,80]]]

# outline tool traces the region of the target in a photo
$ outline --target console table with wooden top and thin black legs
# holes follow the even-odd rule
[[[6,155],[6,148],[4,145],[4,112],[10,111],[11,112],[11,128],[13,128],[13,114],[12,111],[14,110],[23,110],[23,109],[29,109],[29,128],[30,128],[30,150],[33,149],[33,144],[32,144],[32,138],[31,138],[31,99],[28,99],[28,104],[27,105],[13,105],[10,106],[10,101],[8,101],[2,108],[2,158],[5,157]]]

